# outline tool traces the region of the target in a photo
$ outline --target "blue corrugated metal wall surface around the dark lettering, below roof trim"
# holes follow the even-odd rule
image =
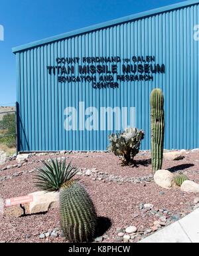
[[[64,109],[88,106],[135,106],[136,126],[145,130],[142,149],[150,148],[149,96],[153,88],[165,95],[165,148],[198,148],[199,5],[113,25],[17,53],[19,151],[106,150],[113,131],[64,130]],[[119,88],[96,90],[88,82],[60,84],[46,66],[57,57],[155,56],[165,74],[153,82],[121,82]],[[81,64],[81,63],[80,63]],[[120,64],[118,64],[121,66]],[[78,75],[78,74],[76,74]]]

